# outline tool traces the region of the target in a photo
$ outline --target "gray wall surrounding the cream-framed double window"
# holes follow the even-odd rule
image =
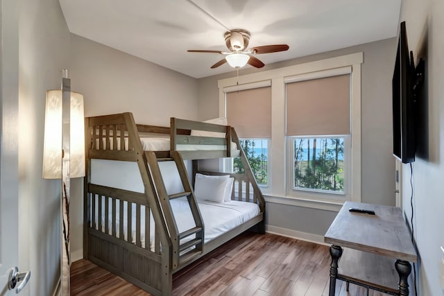
[[[328,53],[266,65],[260,70],[244,69],[239,76],[262,71],[323,60],[339,55],[364,52],[361,67],[361,199],[375,204],[395,204],[395,161],[392,156],[391,78],[395,64],[395,38],[353,46]],[[199,119],[219,115],[219,89],[217,80],[236,73],[200,78]],[[323,236],[336,216],[336,212],[321,211],[283,204],[267,203],[267,224],[293,229],[298,232]],[[282,213],[285,213],[282,215]]]

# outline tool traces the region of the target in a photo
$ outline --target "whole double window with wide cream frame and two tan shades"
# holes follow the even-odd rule
[[[266,140],[266,186],[261,185],[261,189],[268,202],[336,211],[345,200],[361,201],[361,64],[363,61],[363,53],[352,53],[218,81],[219,116],[228,117],[228,124],[236,128],[240,139]],[[341,82],[336,83],[336,79],[345,82],[345,87]],[[323,94],[318,93],[318,96],[314,96],[302,92],[304,89],[301,85],[305,87],[309,85],[302,82],[318,83],[329,80],[332,81],[330,87],[325,85],[309,87],[310,92],[314,91],[315,94],[317,90],[327,89]],[[339,87],[340,85],[343,87]],[[250,101],[244,101],[244,98],[230,101],[235,96],[244,96],[246,90],[260,92],[259,89],[267,88],[271,89],[267,91],[271,92],[271,97],[268,95],[266,99],[269,107],[268,110],[263,109],[263,115],[258,115],[259,112],[256,110],[257,106],[261,105],[258,103],[259,100],[256,101],[258,96],[251,96]],[[343,92],[345,95],[336,96]],[[244,103],[239,104],[241,102]],[[239,104],[234,107],[234,111],[231,109],[234,106],[232,103]],[[266,128],[261,127],[256,130],[264,130],[269,134],[265,136],[242,134],[242,130],[247,130],[244,129],[246,125],[234,123],[237,119],[241,119],[244,123],[252,123],[248,130],[266,123],[264,125]],[[336,175],[332,172],[330,175],[327,173],[321,175],[324,180],[323,186],[310,185],[314,188],[309,188],[310,186],[302,184],[305,182],[304,178],[307,179],[305,172],[295,171],[295,160],[301,162],[301,168],[304,161],[308,162],[307,159],[301,158],[302,155],[298,158],[296,154],[295,158],[295,143],[297,147],[301,139],[305,140],[307,148],[307,140],[311,139],[311,161],[314,139],[316,139],[316,150],[321,141],[327,141],[327,148],[324,143],[326,154],[333,150],[329,146],[332,139],[339,139],[341,145],[343,143],[343,155],[338,154],[338,171]],[[255,148],[258,145],[255,142]],[[257,157],[257,150],[254,152],[254,157]],[[315,162],[321,158],[323,155],[316,155]],[[332,160],[325,158],[325,162]],[[265,165],[264,162],[262,164]],[[221,161],[220,166],[225,172],[234,170],[234,162],[227,159]],[[315,168],[321,169],[317,163]],[[332,184],[330,187],[326,185],[328,178]],[[330,190],[330,188],[336,189]]]

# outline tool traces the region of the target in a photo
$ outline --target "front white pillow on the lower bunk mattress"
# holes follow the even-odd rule
[[[196,173],[194,196],[196,200],[210,200],[223,203],[225,198],[226,181],[230,175],[212,176]]]

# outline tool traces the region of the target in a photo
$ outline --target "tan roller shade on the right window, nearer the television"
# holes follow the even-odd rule
[[[287,83],[287,135],[350,134],[350,74]]]

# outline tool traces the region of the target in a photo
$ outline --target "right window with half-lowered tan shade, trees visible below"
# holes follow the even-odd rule
[[[287,82],[286,93],[288,193],[345,198],[351,183],[350,74]]]

